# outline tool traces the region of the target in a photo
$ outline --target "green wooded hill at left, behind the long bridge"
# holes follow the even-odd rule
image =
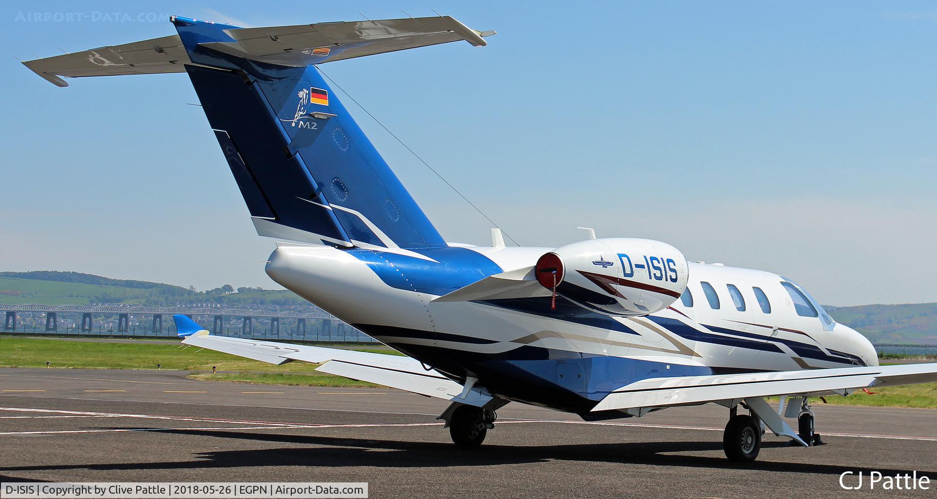
[[[193,291],[148,281],[110,279],[80,272],[0,272],[0,303],[10,305],[134,304],[150,306],[219,304],[228,307],[248,305],[311,306],[291,291],[225,285],[208,291]]]

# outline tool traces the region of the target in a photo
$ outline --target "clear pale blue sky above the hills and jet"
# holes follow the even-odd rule
[[[937,301],[932,3],[7,2],[0,41],[31,59],[171,35],[170,14],[431,8],[498,36],[323,69],[521,244],[589,226],[780,272],[824,303]],[[4,64],[3,270],[276,286],[260,263],[274,242],[185,75],[60,89]],[[448,240],[488,243],[480,215],[345,103]]]

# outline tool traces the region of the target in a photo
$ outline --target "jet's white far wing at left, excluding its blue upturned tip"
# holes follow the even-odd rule
[[[206,331],[188,336],[182,343],[277,365],[292,360],[322,364],[316,371],[462,404],[482,406],[492,399],[491,395],[478,389],[463,394],[462,385],[439,374],[439,371],[424,369],[419,360],[409,357],[228,338]]]

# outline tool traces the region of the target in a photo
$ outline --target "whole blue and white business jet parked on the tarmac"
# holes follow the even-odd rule
[[[227,338],[176,316],[186,345],[450,401],[439,418],[460,446],[481,444],[512,401],[587,420],[721,404],[734,461],[755,459],[765,427],[818,444],[809,397],[937,381],[937,364],[879,366],[865,337],[775,273],[691,263],[646,239],[508,247],[493,229],[490,247],[445,242],[316,66],[481,47],[493,31],[448,16],[170,21],[177,35],[23,64],[63,87],[61,77],[187,73],[257,232],[290,241],[266,272],[409,357]]]

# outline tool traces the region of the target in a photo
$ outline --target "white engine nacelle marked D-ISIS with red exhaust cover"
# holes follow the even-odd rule
[[[537,281],[609,316],[647,316],[687,288],[687,259],[666,242],[607,238],[573,242],[537,260]]]

